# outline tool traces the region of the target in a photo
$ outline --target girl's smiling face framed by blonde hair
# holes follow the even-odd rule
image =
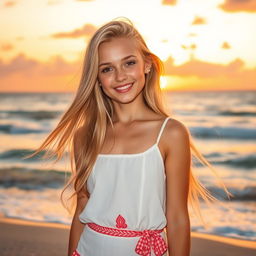
[[[150,66],[132,39],[113,38],[99,46],[98,79],[114,102],[129,103],[141,95]]]

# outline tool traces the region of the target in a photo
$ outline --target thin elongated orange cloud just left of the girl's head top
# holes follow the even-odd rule
[[[70,32],[60,32],[53,34],[54,38],[78,38],[83,36],[91,36],[96,31],[96,27],[92,24],[86,24],[82,28],[75,29]]]

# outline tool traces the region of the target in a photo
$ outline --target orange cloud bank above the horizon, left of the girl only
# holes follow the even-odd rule
[[[10,62],[0,59],[0,91],[65,92],[74,91],[79,83],[80,62],[70,63],[60,56],[40,62],[20,54]]]

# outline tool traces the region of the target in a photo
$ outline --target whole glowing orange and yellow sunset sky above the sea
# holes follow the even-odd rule
[[[1,0],[0,91],[74,91],[87,42],[129,18],[167,90],[256,89],[256,0]]]

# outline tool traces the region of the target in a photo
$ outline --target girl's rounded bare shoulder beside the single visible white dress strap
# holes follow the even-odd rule
[[[170,118],[165,126],[162,140],[163,149],[166,154],[175,149],[185,149],[190,144],[190,132],[181,121]]]

